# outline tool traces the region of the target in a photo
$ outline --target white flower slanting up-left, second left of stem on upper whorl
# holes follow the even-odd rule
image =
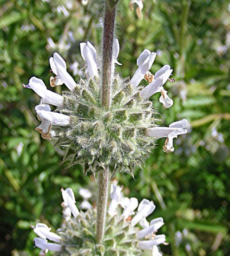
[[[62,59],[62,57],[58,53],[53,54],[50,58],[50,66],[53,70],[54,74],[58,75],[58,79],[61,80],[67,88],[71,91],[76,87],[76,82],[73,80],[72,76],[66,70],[66,62]]]

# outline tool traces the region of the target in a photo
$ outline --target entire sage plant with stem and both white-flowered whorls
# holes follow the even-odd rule
[[[161,93],[159,101],[164,108],[170,108],[173,101],[163,85],[174,81],[170,78],[169,65],[155,74],[149,71],[156,53],[144,49],[131,79],[116,73],[115,64],[121,65],[119,42],[114,36],[118,1],[104,1],[100,58],[91,42],[80,43],[85,79],[75,82],[67,72],[66,62],[54,53],[50,66],[55,76],[51,76],[50,85],[65,84],[69,90],[56,94],[36,77],[24,85],[41,97],[35,110],[41,121],[36,130],[42,138],[56,137],[57,145],[66,150],[63,161],[68,161],[70,166],[81,164],[85,175],[90,172],[98,180],[97,209],[88,205],[86,212],[79,212],[71,189],[62,189],[65,221],[57,230],[59,235],[42,223],[34,228],[40,236],[35,238],[35,245],[41,249],[41,255],[45,255],[47,249],[63,256],[144,255],[143,249],[161,255],[157,245],[165,242],[164,235],[155,235],[164,224],[163,219],[150,223],[145,219],[155,209],[153,202],[144,199],[138,206],[137,199],[130,198],[121,203],[121,188],[112,185],[107,209],[109,183],[118,171],[133,175],[134,168],[141,167],[149,157],[158,138],[166,138],[163,149],[170,153],[174,151],[173,139],[187,133],[185,119],[169,127],[156,124],[158,113],[149,98]],[[140,85],[143,79],[149,82],[145,87]],[[57,107],[55,111],[51,111],[49,104]],[[117,210],[118,205],[122,205],[123,212]],[[136,208],[138,211],[132,218]],[[141,227],[144,229],[139,230]],[[48,243],[47,239],[55,243]]]

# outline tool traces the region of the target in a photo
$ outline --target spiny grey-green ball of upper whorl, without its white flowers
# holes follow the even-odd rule
[[[142,88],[134,89],[129,79],[114,77],[108,111],[101,105],[100,88],[95,76],[81,79],[72,91],[63,93],[63,107],[56,111],[69,115],[70,125],[54,127],[57,144],[66,148],[63,161],[81,164],[85,175],[106,167],[111,176],[119,170],[133,175],[133,168],[141,166],[154,147],[155,140],[146,131],[156,126],[157,112],[151,101],[142,100]]]

